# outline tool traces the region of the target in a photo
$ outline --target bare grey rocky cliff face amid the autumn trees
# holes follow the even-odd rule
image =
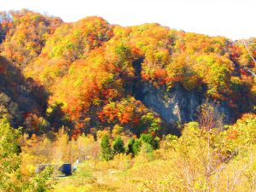
[[[167,124],[195,120],[199,106],[206,102],[202,92],[185,90],[178,84],[172,90],[165,91],[143,82],[137,84],[134,96],[145,106],[159,113]],[[224,102],[215,105],[218,112],[224,114],[225,123],[229,123],[232,115],[228,105]]]

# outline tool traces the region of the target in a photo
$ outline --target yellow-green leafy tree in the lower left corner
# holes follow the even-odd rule
[[[49,181],[49,171],[42,172],[36,177],[20,172],[19,137],[20,129],[13,129],[5,117],[0,119],[0,191],[44,192],[51,189],[53,181]]]

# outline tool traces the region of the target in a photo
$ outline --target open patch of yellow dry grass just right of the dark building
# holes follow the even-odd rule
[[[157,183],[165,180],[173,167],[170,160],[155,159],[158,153],[142,153],[132,160],[130,156],[120,154],[110,161],[85,161],[72,177],[59,179],[53,191],[150,191],[147,183],[159,185]]]

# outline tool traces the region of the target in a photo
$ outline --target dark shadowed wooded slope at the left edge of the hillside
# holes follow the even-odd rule
[[[44,115],[48,98],[44,87],[25,79],[20,69],[3,56],[0,56],[0,67],[0,105],[13,114],[13,125],[22,125],[26,113]]]

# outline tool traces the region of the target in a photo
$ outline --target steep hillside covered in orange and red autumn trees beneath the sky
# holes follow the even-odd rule
[[[241,41],[95,16],[65,23],[26,9],[1,14],[1,41],[1,113],[30,132],[67,125],[75,136],[119,125],[139,134],[160,128],[148,127],[153,119],[165,127],[196,119],[180,117],[175,106],[195,114],[202,102],[218,102],[227,123],[255,108],[248,69],[256,67]],[[247,44],[256,55],[256,39]],[[191,107],[173,103],[166,113],[174,118],[166,120],[157,103],[143,101],[145,87],[163,98],[177,87],[200,98]]]

